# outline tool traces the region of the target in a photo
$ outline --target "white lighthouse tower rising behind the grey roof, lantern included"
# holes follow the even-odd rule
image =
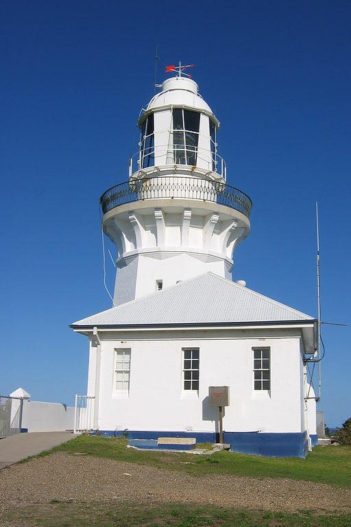
[[[250,232],[251,200],[226,184],[219,121],[185,68],[169,68],[178,74],[142,111],[128,182],[101,196],[119,254],[114,305],[207,271],[230,279],[234,248]]]

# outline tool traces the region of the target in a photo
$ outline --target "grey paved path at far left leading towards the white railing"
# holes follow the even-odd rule
[[[77,437],[72,432],[29,432],[0,439],[0,469]]]

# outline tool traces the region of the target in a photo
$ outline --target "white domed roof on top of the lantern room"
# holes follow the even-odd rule
[[[186,77],[172,77],[165,80],[162,83],[162,91],[151,99],[146,111],[165,106],[187,106],[213,114],[210,106],[199,95],[199,86],[195,81]]]

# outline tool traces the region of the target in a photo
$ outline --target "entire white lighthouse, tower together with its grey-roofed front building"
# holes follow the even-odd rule
[[[90,426],[215,442],[209,387],[228,386],[232,451],[303,457],[316,443],[306,378],[316,320],[232,282],[251,201],[227,185],[219,122],[183,69],[141,114],[128,182],[101,196],[119,252],[115,307],[72,325],[90,341]]]

